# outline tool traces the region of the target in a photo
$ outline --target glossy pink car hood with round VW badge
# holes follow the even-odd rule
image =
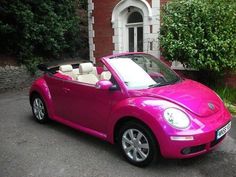
[[[206,117],[220,110],[221,99],[208,87],[192,81],[166,85],[144,90],[130,90],[130,96],[155,97],[173,102],[192,113]]]

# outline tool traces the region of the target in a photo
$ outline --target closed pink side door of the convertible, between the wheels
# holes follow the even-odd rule
[[[106,133],[113,97],[119,93],[78,81],[65,81],[63,87],[68,91],[63,99],[67,109],[65,118],[84,128]]]

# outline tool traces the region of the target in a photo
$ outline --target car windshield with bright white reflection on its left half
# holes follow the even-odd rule
[[[151,55],[124,55],[111,58],[108,62],[130,89],[159,87],[180,80],[171,69]]]

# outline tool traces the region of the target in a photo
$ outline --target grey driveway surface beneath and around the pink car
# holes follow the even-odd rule
[[[32,118],[28,91],[0,94],[0,177],[236,177],[236,118],[223,144],[193,159],[128,164],[113,145]]]

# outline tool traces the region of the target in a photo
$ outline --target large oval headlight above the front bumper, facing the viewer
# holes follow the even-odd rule
[[[174,128],[184,129],[190,124],[188,116],[175,108],[168,108],[164,111],[165,120]]]

